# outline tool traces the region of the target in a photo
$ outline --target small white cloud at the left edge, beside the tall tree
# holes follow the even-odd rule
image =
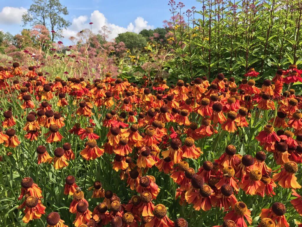
[[[9,7],[5,6],[0,12],[0,24],[21,24],[22,15],[27,11],[23,7]]]

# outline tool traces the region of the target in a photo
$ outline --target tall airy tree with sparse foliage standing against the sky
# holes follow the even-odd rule
[[[66,6],[63,6],[59,0],[33,0],[30,8],[22,15],[24,25],[44,25],[51,31],[62,31],[70,25],[62,15],[68,15]],[[55,32],[52,32],[51,41],[55,38]]]

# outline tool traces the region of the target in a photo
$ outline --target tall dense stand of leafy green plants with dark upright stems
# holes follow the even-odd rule
[[[198,2],[194,16],[172,20],[175,26],[170,28],[169,48],[175,58],[167,66],[173,78],[214,78],[223,72],[239,80],[249,67],[262,78],[272,78],[278,68],[301,64],[297,0]],[[175,15],[176,10],[179,8],[174,8]]]

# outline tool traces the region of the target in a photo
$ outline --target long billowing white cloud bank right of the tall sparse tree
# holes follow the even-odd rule
[[[127,31],[139,33],[143,29],[153,28],[153,26],[148,25],[148,21],[145,21],[142,17],[137,17],[134,20],[134,24],[130,22],[127,28],[111,24],[108,22],[104,14],[102,14],[98,10],[95,10],[94,12],[92,12],[89,20],[87,16],[79,16],[74,18],[69,28],[63,30],[63,36],[66,38],[69,38],[70,36],[76,36],[76,34],[82,29],[90,28],[89,22],[93,22],[92,32],[94,33],[98,33],[98,31],[101,30],[103,26],[106,26],[111,31],[108,40],[112,40],[116,38],[118,34]]]

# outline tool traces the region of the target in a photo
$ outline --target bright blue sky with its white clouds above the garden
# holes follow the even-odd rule
[[[195,0],[182,2],[185,9],[192,6],[197,7],[197,10],[201,9],[200,3]],[[9,31],[13,35],[19,33],[23,29],[21,15],[31,3],[29,0],[0,0],[0,30]],[[65,37],[75,35],[83,28],[90,28],[89,22],[93,22],[94,32],[105,25],[112,31],[112,39],[125,31],[138,33],[144,28],[162,27],[162,21],[171,16],[168,0],[61,0],[61,3],[69,11],[65,18],[72,22],[63,32]]]

